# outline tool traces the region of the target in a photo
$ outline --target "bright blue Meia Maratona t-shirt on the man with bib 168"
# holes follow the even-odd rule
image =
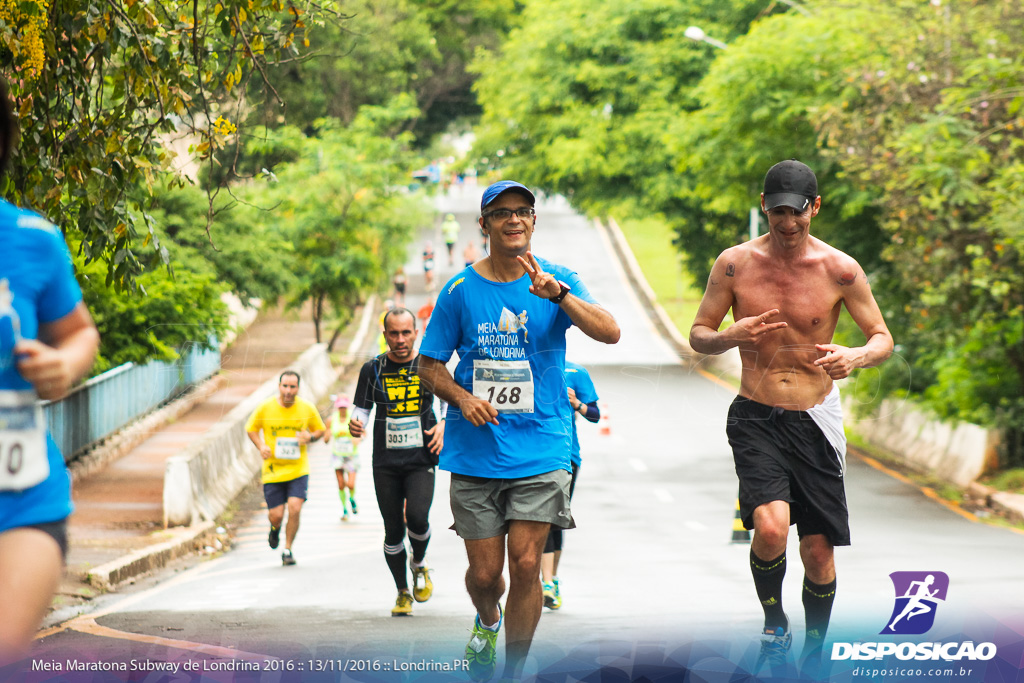
[[[574,271],[539,257],[537,261],[565,282],[574,296],[597,303]],[[443,470],[496,479],[571,471],[572,407],[563,372],[565,332],[572,321],[561,306],[531,294],[529,286],[526,273],[511,283],[496,283],[470,266],[437,296],[420,353],[447,362],[458,352],[455,381],[470,393],[475,382],[499,411],[498,425],[474,427],[457,403],[449,405],[439,462]],[[510,390],[483,384],[502,376],[506,364],[513,368],[504,373],[512,380]],[[518,398],[526,395],[527,381],[532,412],[508,412],[517,410]]]

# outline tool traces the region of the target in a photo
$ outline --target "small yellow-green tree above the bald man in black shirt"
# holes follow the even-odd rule
[[[268,199],[281,205],[264,219],[280,221],[294,244],[298,286],[290,305],[311,303],[317,341],[324,325],[334,324],[330,348],[354,307],[401,263],[413,230],[430,220],[423,199],[406,188],[420,161],[412,134],[391,134],[417,114],[403,95],[361,108],[348,126],[323,119],[298,161],[271,169],[279,182]]]

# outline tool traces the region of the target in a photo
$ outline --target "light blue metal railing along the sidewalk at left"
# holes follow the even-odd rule
[[[43,401],[46,424],[65,462],[70,462],[219,370],[216,347],[194,346],[174,362],[128,362],[93,377],[59,400]]]

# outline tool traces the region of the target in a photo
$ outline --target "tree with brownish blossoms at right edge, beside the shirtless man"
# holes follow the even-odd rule
[[[901,3],[822,110],[827,150],[885,198],[887,296],[940,415],[1024,433],[1024,59],[1017,3]],[[893,30],[892,27],[899,27]],[[895,305],[898,303],[898,306]],[[1008,439],[1014,464],[1020,437]]]

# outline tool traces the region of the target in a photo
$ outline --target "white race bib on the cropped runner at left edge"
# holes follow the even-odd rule
[[[49,476],[46,422],[35,391],[0,391],[0,490],[25,490]]]

